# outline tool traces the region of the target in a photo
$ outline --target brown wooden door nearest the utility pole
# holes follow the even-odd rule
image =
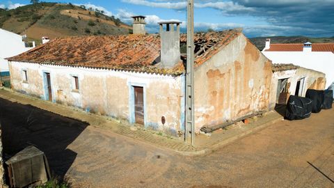
[[[144,125],[143,87],[134,87],[134,114],[135,114],[136,123]]]

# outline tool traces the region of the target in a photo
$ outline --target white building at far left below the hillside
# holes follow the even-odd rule
[[[33,47],[34,46],[35,44],[33,42]],[[22,54],[29,49],[32,49],[32,47],[26,47],[22,36],[0,29],[0,74],[9,74],[8,61],[5,58]]]

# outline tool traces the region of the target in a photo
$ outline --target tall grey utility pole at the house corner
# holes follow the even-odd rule
[[[195,55],[193,45],[193,0],[187,0],[186,18],[186,141],[191,139],[194,145],[195,139],[195,109],[193,90],[193,62]],[[189,135],[190,134],[190,135]]]

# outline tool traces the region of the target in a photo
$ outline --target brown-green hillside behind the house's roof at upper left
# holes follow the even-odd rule
[[[132,27],[103,11],[61,3],[35,3],[12,10],[0,10],[0,27],[40,43],[42,36],[119,35]]]

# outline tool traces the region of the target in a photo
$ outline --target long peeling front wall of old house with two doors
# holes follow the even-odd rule
[[[53,102],[134,123],[132,86],[143,86],[145,127],[176,135],[184,124],[184,76],[172,77],[147,73],[71,68],[11,61],[10,79],[15,91],[45,100],[44,72],[51,76]],[[28,72],[24,83],[22,70]],[[79,79],[79,91],[74,77]],[[44,81],[43,81],[44,80]],[[166,123],[161,123],[165,116]]]

